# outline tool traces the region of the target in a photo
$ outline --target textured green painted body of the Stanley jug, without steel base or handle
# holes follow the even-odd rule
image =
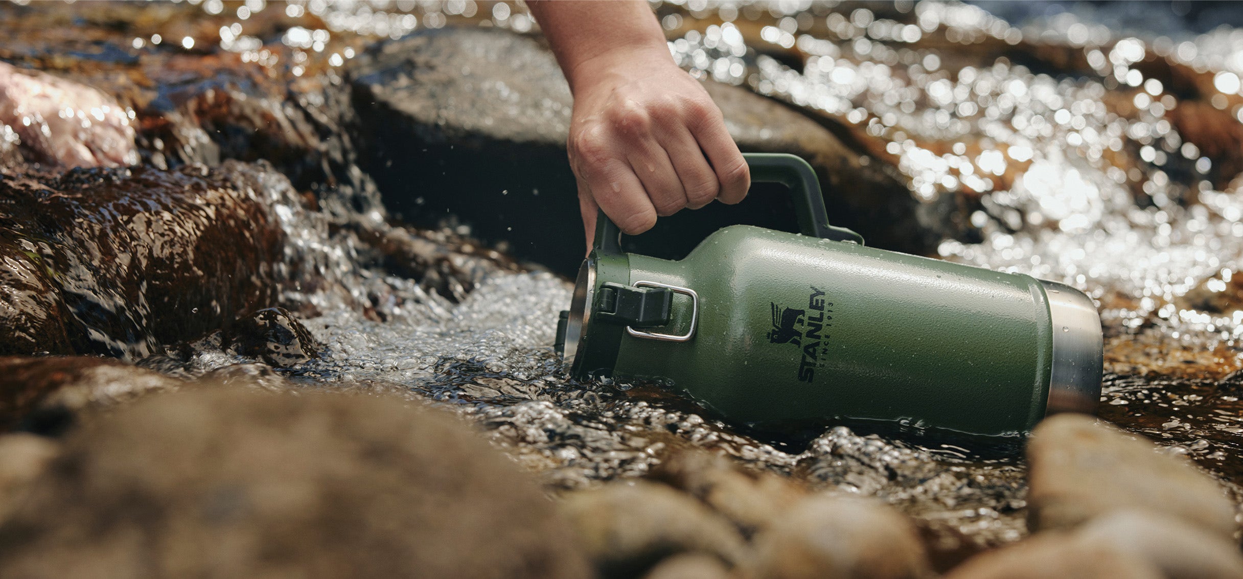
[[[614,375],[663,379],[732,420],[881,419],[1001,435],[1044,415],[1053,337],[1032,277],[745,225],[685,260],[631,255],[629,267],[630,283],[699,292],[700,321],[686,343],[623,335]],[[808,334],[817,290],[819,339]],[[675,297],[665,333],[686,328],[689,304]],[[799,344],[769,338],[773,304],[804,311],[786,324]]]

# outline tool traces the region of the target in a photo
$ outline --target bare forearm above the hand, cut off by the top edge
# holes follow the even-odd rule
[[[576,94],[618,58],[672,63],[660,24],[643,0],[533,0],[527,6]]]

